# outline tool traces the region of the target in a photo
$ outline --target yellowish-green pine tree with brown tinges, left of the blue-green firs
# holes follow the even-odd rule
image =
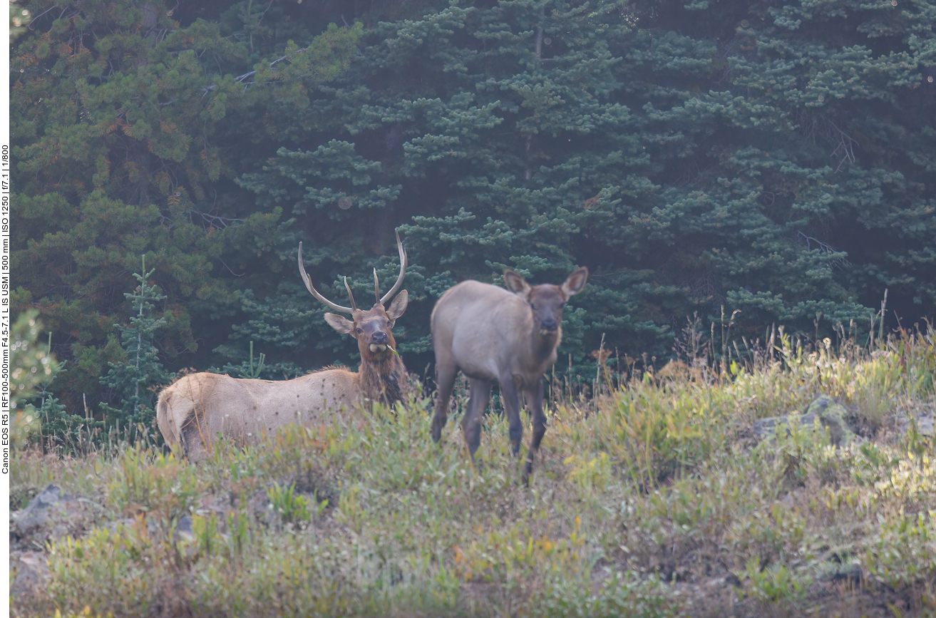
[[[12,308],[40,309],[65,335],[51,390],[69,411],[83,411],[82,393],[94,407],[122,358],[109,336],[140,253],[168,296],[158,347],[176,365],[207,365],[227,337],[245,255],[248,277],[271,278],[262,265],[288,224],[232,179],[292,134],[306,92],[343,70],[360,31],[310,31],[296,8],[30,4],[11,51]]]

